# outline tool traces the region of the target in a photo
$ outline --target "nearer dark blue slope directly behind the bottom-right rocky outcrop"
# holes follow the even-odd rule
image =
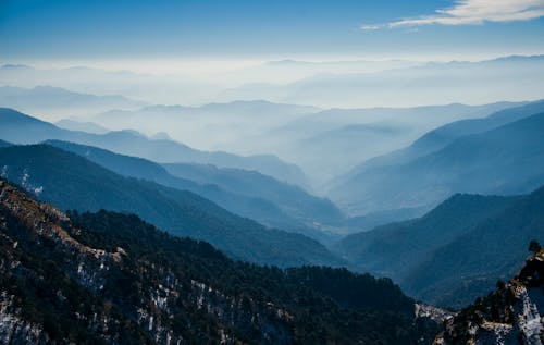
[[[533,238],[544,238],[544,187],[437,248],[407,276],[404,287],[431,303],[466,305],[498,279],[511,278]]]

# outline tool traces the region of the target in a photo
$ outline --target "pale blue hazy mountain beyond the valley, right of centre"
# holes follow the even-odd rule
[[[327,109],[292,119],[264,133],[225,144],[236,152],[271,152],[295,162],[316,187],[362,161],[406,147],[426,132],[461,119],[486,116],[518,103],[415,108]],[[248,147],[247,143],[252,143]],[[323,159],[326,158],[326,159]],[[320,189],[320,192],[322,192]]]

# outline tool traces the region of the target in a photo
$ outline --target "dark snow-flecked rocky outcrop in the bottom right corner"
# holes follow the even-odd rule
[[[449,319],[434,344],[542,344],[543,262],[542,250],[529,257],[516,278]]]

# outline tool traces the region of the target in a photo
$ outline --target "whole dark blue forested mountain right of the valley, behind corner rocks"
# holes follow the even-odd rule
[[[395,278],[418,299],[459,308],[515,274],[523,244],[544,237],[543,214],[544,187],[512,197],[456,195],[420,219],[347,236],[335,252],[361,271]]]

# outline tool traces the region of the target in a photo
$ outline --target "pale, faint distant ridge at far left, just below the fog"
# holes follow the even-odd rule
[[[0,104],[59,120],[59,116],[90,115],[110,109],[136,109],[145,103],[118,95],[96,96],[52,86],[0,86]]]

